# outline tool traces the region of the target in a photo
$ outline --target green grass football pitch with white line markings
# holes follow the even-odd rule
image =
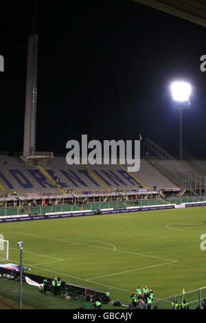
[[[205,207],[1,223],[0,233],[9,263],[19,263],[23,241],[30,273],[110,291],[125,304],[137,286],[157,300],[206,285]]]

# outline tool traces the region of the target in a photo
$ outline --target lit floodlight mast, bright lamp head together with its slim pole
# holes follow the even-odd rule
[[[171,85],[174,107],[179,110],[179,157],[183,158],[183,110],[190,109],[191,86],[187,82],[174,82]]]

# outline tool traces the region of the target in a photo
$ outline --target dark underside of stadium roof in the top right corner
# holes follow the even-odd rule
[[[206,0],[135,0],[206,27]]]

